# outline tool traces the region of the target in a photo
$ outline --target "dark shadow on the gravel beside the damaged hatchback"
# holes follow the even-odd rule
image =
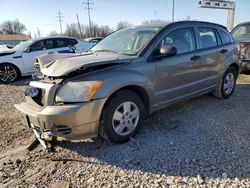
[[[239,102],[241,101],[241,102]],[[205,95],[154,113],[125,144],[102,140],[58,142],[79,158],[54,160],[112,165],[173,176],[250,177],[250,85],[239,84],[228,100]]]

